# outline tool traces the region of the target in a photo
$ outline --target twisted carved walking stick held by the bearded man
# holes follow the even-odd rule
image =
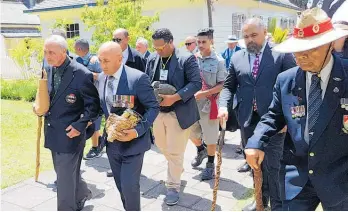
[[[217,190],[219,189],[221,164],[222,164],[221,150],[225,142],[225,131],[226,131],[226,120],[223,118],[222,124],[221,124],[221,132],[220,132],[219,140],[217,143],[217,146],[218,146],[217,165],[216,165],[216,175],[215,175],[215,184],[213,189],[213,202],[211,204],[211,211],[215,211],[215,207],[216,207]]]

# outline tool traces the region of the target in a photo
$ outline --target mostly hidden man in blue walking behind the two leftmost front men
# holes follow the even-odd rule
[[[99,73],[101,73],[101,68],[99,64],[98,57],[91,54],[89,51],[89,43],[86,39],[78,39],[74,45],[75,53],[78,55],[76,61],[84,65],[93,74],[94,80],[98,78]],[[99,117],[97,121],[93,124],[94,133],[92,135],[92,148],[89,150],[87,155],[84,157],[85,160],[90,160],[93,158],[98,158],[102,156],[102,137],[100,136],[99,130],[101,125],[102,117]],[[89,132],[91,129],[87,129]]]

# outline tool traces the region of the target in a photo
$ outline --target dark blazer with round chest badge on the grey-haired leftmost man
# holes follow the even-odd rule
[[[68,57],[67,57],[68,58]],[[71,153],[86,140],[86,126],[95,121],[100,112],[100,101],[93,84],[92,73],[75,60],[70,60],[61,84],[45,114],[45,147],[54,152]],[[52,68],[46,67],[49,92],[52,90]],[[70,97],[70,99],[69,99]],[[69,138],[65,129],[72,125],[81,135]]]

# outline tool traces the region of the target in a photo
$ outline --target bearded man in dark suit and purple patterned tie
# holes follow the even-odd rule
[[[243,26],[243,37],[247,49],[236,52],[229,67],[229,74],[219,100],[219,117],[228,118],[227,103],[237,95],[237,118],[241,128],[243,148],[247,140],[263,116],[268,111],[272,101],[273,85],[280,72],[294,67],[291,54],[272,53],[272,47],[266,41],[267,30],[259,18],[248,19]],[[238,89],[237,89],[238,88]],[[284,139],[284,133],[277,134],[273,139]],[[281,149],[278,145],[276,149]],[[280,151],[279,151],[280,152]],[[269,197],[272,210],[281,209],[279,196],[279,153],[270,153],[263,163],[263,203],[268,206]],[[245,163],[238,171],[247,172],[250,166]],[[243,210],[256,210],[256,204],[245,207]]]

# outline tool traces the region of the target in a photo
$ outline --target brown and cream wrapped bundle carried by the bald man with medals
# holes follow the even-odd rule
[[[129,130],[135,128],[138,122],[142,119],[141,115],[137,112],[127,109],[121,116],[111,113],[106,120],[106,133],[108,135],[107,140],[113,142],[118,140],[117,133],[123,133],[123,130]]]

